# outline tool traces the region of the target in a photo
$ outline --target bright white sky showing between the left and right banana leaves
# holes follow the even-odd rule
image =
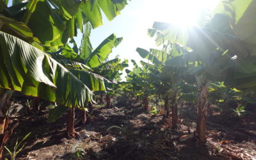
[[[155,21],[171,22],[184,26],[196,24],[198,15],[204,9],[213,10],[220,0],[131,0],[121,14],[110,22],[104,17],[104,25],[95,28],[91,41],[95,49],[100,42],[112,33],[123,37],[123,42],[113,49],[109,60],[118,54],[122,59],[143,60],[137,47],[154,48],[154,38],[147,35],[147,29],[152,28]],[[78,37],[81,39],[81,36]],[[131,68],[131,67],[129,67]]]

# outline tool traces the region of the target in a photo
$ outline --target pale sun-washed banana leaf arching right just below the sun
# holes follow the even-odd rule
[[[228,54],[247,56],[248,51],[244,48],[243,43],[232,35],[212,31],[209,29],[201,29],[197,27],[182,29],[173,24],[163,22],[155,22],[154,29],[162,31],[164,34],[164,42],[169,41],[172,44],[180,44],[189,47],[200,55],[202,58],[208,58],[216,49],[222,52],[228,50]],[[191,51],[187,49],[188,51]]]

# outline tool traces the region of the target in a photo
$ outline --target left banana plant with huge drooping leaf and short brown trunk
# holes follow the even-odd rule
[[[36,43],[37,39],[33,37],[33,34],[31,32],[28,34],[30,30],[26,24],[6,17],[2,19],[4,31],[10,31],[32,45],[16,36],[1,32],[1,52],[4,59],[1,59],[3,79],[1,79],[0,87],[72,107],[71,115],[74,115],[74,107],[84,108],[88,102],[93,101],[93,93],[89,88],[104,90],[103,77],[77,67],[80,63],[67,60],[65,52],[64,56],[58,54],[49,56],[49,52],[45,53],[41,50],[42,47]],[[15,25],[20,28],[17,29]],[[86,60],[82,59],[83,62],[90,66],[99,65],[100,60],[106,59],[112,47],[118,45],[121,40],[122,38],[116,38],[115,35],[109,36]],[[63,60],[60,56],[63,56]],[[86,65],[82,66],[86,68]],[[65,84],[65,87],[53,89],[56,88],[56,84],[59,86]],[[73,124],[72,119],[74,118],[70,118],[69,122]],[[74,126],[70,127],[68,132],[71,135],[74,134]]]

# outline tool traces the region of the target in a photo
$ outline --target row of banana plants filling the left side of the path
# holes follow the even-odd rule
[[[102,12],[112,20],[126,5],[127,0],[0,0],[0,159],[14,129],[6,131],[14,91],[69,107],[67,131],[77,134],[74,108],[85,109],[94,102],[93,92],[113,83],[115,76],[107,79],[102,72],[127,66],[119,59],[104,63],[122,38],[110,35],[93,50],[90,31],[102,25]],[[73,37],[79,30],[78,48]]]

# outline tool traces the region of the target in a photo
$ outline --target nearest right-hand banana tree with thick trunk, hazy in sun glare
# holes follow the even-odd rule
[[[226,4],[230,5],[227,6]],[[244,5],[246,7],[241,7]],[[189,53],[182,54],[175,61],[184,61],[184,66],[190,63],[195,67],[190,71],[190,74],[195,75],[196,82],[200,86],[200,96],[198,98],[198,120],[196,125],[196,134],[200,141],[205,142],[205,119],[207,115],[207,88],[211,82],[224,81],[227,86],[235,86],[237,88],[252,88],[255,87],[253,81],[253,65],[255,57],[253,49],[255,45],[250,43],[248,35],[255,33],[252,27],[241,30],[241,26],[250,26],[248,21],[244,19],[252,16],[252,6],[255,3],[244,1],[221,1],[223,8],[217,8],[216,14],[207,26],[203,28],[190,28],[182,30],[172,24],[155,22],[153,28],[161,31],[164,34],[164,41],[171,43],[182,44],[188,49]],[[230,13],[229,9],[236,8],[236,11],[231,10],[230,15],[235,16],[231,19],[225,13]],[[223,18],[224,17],[224,18]],[[234,17],[233,17],[234,18]],[[232,23],[227,23],[232,22]],[[225,21],[226,20],[226,21]],[[253,21],[254,22],[254,21]],[[220,24],[220,25],[219,25]],[[232,28],[230,27],[232,25]],[[240,30],[239,30],[240,29]],[[247,34],[247,35],[246,35]],[[248,38],[248,39],[243,39]],[[252,68],[248,68],[248,67]],[[247,69],[247,70],[246,70]],[[245,78],[246,77],[246,78]],[[237,86],[236,86],[237,84]]]

